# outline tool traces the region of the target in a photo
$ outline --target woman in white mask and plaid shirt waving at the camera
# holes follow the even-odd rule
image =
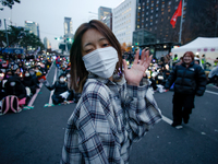
[[[68,121],[62,163],[128,163],[132,142],[160,120],[148,84],[140,85],[152,56],[143,50],[138,61],[138,52],[131,69],[123,61],[123,75],[121,46],[107,25],[93,20],[77,28],[71,80],[82,95]]]

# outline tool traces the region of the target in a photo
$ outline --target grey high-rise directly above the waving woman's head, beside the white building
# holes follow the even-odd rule
[[[112,10],[111,8],[99,7],[98,20],[105,23],[112,31]]]

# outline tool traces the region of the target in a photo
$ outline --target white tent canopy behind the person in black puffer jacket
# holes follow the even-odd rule
[[[206,56],[207,62],[214,65],[214,60],[218,57],[218,37],[197,37],[193,42],[178,47],[172,48],[171,52],[178,55],[180,58],[185,51],[193,51],[194,55]]]

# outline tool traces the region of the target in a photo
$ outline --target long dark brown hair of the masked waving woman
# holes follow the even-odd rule
[[[75,92],[82,92],[83,85],[87,79],[88,72],[82,60],[82,37],[85,32],[90,28],[97,30],[101,35],[104,35],[110,45],[118,51],[119,62],[116,66],[117,72],[122,72],[122,51],[121,46],[111,30],[98,20],[92,20],[88,23],[82,24],[75,32],[74,42],[70,51],[71,61],[71,82],[72,87]]]

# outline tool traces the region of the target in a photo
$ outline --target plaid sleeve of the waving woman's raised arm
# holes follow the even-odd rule
[[[126,84],[124,98],[126,129],[133,141],[140,140],[155,124],[161,120],[161,112],[148,85]]]

